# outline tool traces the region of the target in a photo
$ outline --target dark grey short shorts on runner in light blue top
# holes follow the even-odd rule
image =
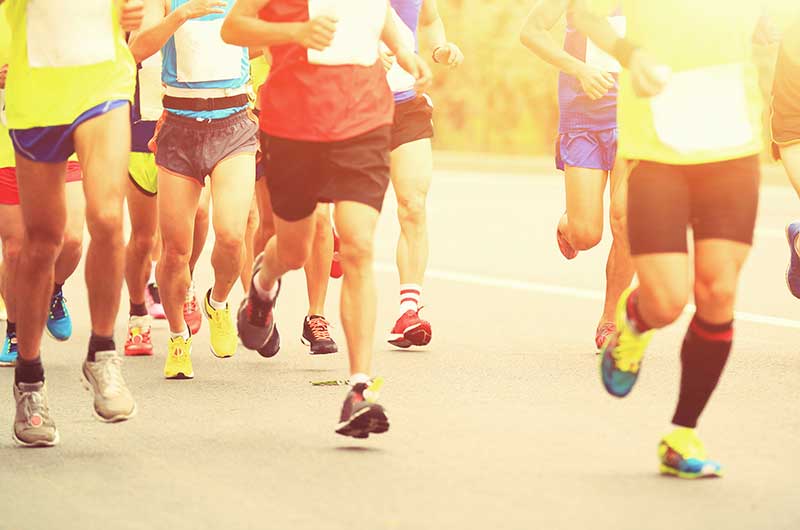
[[[228,158],[255,156],[258,125],[249,110],[216,120],[197,120],[165,112],[151,142],[156,165],[205,186],[206,175]]]

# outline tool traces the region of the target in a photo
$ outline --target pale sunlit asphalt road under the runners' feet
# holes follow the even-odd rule
[[[389,433],[334,434],[345,389],[309,381],[345,378],[346,356],[305,353],[298,274],[284,283],[278,357],[216,359],[204,324],[196,379],[166,381],[161,324],[155,357],[125,362],[139,415],[97,422],[79,383],[89,334],[79,274],[66,287],[75,336],[44,347],[59,447],[13,445],[12,370],[0,371],[0,529],[798,529],[800,302],[784,284],[783,225],[800,202],[788,188],[762,200],[734,353],[701,423],[723,479],[656,472],[687,318],[653,340],[629,398],[607,396],[593,333],[608,243],[561,258],[558,179],[439,172],[427,349],[383,341],[397,303],[391,195],[377,238],[374,372],[386,378]],[[198,289],[210,278],[206,256]],[[338,292],[333,282],[335,323]]]

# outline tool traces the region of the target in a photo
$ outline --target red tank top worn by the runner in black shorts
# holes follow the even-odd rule
[[[304,22],[308,0],[272,0],[259,16],[268,22]],[[377,46],[378,43],[375,43]],[[261,129],[272,136],[335,142],[392,123],[394,100],[380,61],[373,66],[320,66],[297,44],[272,46],[261,87]]]

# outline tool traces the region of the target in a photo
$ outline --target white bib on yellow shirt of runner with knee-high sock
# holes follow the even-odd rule
[[[744,80],[740,63],[673,74],[664,91],[650,100],[658,138],[684,154],[752,142]]]

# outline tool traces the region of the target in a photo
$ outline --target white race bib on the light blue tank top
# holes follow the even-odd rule
[[[202,83],[242,76],[244,48],[222,40],[223,18],[190,20],[175,32],[178,81]]]

